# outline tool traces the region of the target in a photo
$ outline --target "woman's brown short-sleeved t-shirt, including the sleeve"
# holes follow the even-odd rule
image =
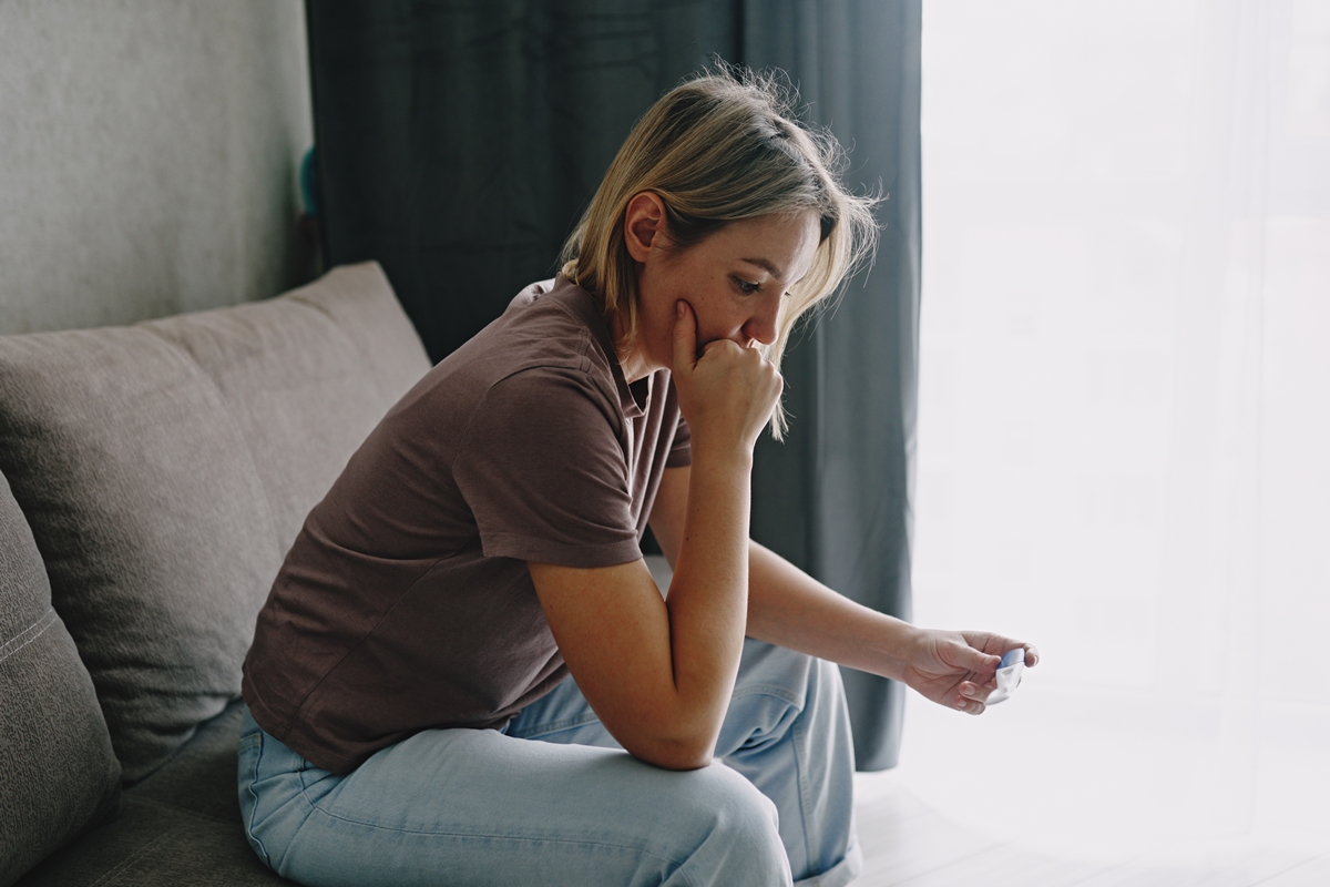
[[[636,560],[661,472],[688,463],[669,372],[626,384],[581,287],[527,287],[310,512],[245,660],[254,719],[334,773],[501,726],[567,674],[527,561]]]

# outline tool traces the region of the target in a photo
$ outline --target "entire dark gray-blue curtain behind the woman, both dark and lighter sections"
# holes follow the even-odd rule
[[[307,0],[323,254],[378,259],[439,360],[556,255],[633,122],[716,53],[789,72],[888,194],[870,274],[785,367],[754,536],[910,616],[920,0]],[[896,761],[896,685],[846,672],[861,769]]]

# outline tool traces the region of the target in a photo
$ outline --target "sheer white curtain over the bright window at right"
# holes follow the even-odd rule
[[[898,778],[1051,848],[1330,838],[1330,3],[935,0]],[[1019,823],[1009,817],[1019,813]]]

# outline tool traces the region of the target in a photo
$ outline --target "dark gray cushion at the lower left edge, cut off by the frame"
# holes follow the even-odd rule
[[[0,476],[0,884],[113,813],[120,763]]]

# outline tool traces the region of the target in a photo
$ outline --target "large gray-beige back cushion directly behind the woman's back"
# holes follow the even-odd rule
[[[305,512],[426,370],[372,265],[269,302],[0,336],[0,471],[126,783],[239,693]]]

